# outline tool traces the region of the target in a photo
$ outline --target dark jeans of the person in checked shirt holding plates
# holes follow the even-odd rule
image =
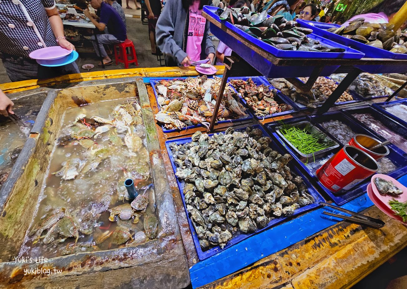
[[[66,74],[79,73],[75,62],[59,67],[39,65],[35,60],[19,56],[2,56],[2,62],[11,81],[53,78]]]

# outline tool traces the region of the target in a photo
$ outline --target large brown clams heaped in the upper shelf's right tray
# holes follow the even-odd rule
[[[391,23],[369,23],[364,18],[357,18],[348,26],[333,27],[327,31],[390,52],[407,53],[407,34],[393,28]]]

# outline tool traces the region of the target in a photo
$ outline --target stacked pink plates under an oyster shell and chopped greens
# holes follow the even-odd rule
[[[385,180],[391,180],[393,182],[394,185],[396,185],[398,188],[403,190],[403,193],[397,197],[393,197],[393,196],[383,196],[379,193],[379,191],[377,190],[376,185],[374,184],[374,178],[379,177],[379,178],[383,178]],[[393,219],[406,224],[403,222],[403,219],[400,216],[394,215],[394,212],[392,211],[392,209],[390,209],[390,205],[388,204],[388,202],[392,199],[398,200],[399,202],[406,202],[407,201],[407,188],[405,186],[403,186],[402,184],[400,184],[396,179],[387,176],[387,175],[383,175],[383,174],[375,174],[374,176],[372,176],[371,179],[371,183],[368,185],[368,196],[370,198],[370,200],[372,200],[372,202],[386,215],[388,215],[389,217],[392,217]]]

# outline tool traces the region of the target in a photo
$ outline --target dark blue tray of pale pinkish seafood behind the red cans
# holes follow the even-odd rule
[[[353,117],[353,114],[356,113],[369,113],[371,114],[378,122],[381,122],[384,124],[387,128],[390,130],[394,131],[398,135],[407,137],[407,127],[396,122],[392,117],[389,117],[387,114],[382,113],[381,111],[377,110],[374,106],[370,105],[361,105],[361,106],[356,106],[356,107],[350,107],[347,109],[342,109],[342,111],[348,115],[354,122],[357,122],[359,125],[366,127],[365,124],[363,124],[361,121],[357,120],[355,117]],[[370,130],[370,129],[369,129]],[[381,135],[378,135],[374,131],[372,131],[372,134],[376,136],[376,138],[379,138],[383,141],[384,139]],[[391,141],[391,140],[390,140]],[[404,152],[401,148],[398,148],[394,144],[391,144],[389,146],[394,147],[394,149],[398,150],[401,154],[404,156],[407,156],[407,152]]]

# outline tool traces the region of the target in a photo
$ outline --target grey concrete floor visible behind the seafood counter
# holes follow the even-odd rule
[[[124,1],[123,5],[125,5],[126,2]],[[134,6],[134,2],[130,1],[130,6]],[[129,10],[129,9],[125,9]],[[134,9],[130,11],[137,11],[137,13],[140,15],[140,10],[136,10],[135,7]],[[134,43],[134,47],[136,49],[136,54],[137,54],[137,60],[138,60],[138,66],[137,67],[158,67],[160,66],[160,62],[157,61],[157,56],[151,55],[151,45],[150,45],[150,40],[149,40],[149,32],[148,32],[148,26],[143,25],[141,23],[140,18],[133,18],[134,16],[129,15],[131,17],[126,17],[126,24],[127,24],[127,37]],[[136,16],[137,17],[137,16]],[[90,50],[92,51],[92,50]],[[114,58],[112,58],[114,60]],[[77,59],[76,63],[79,67],[80,72],[87,72],[88,70],[85,70],[82,68],[82,65],[91,63],[95,67],[90,70],[90,71],[99,71],[99,70],[112,70],[112,69],[124,69],[124,64],[123,63],[118,63],[116,66],[115,62],[113,62],[112,65],[107,65],[105,69],[102,69],[101,67],[98,67],[98,63],[100,62],[99,59],[96,58],[96,54],[93,52],[91,53],[79,53],[79,58]],[[163,62],[164,63],[164,62]],[[129,65],[129,68],[135,68],[136,65],[134,63],[131,63]],[[7,73],[4,69],[4,66],[2,65],[0,61],[0,83],[8,83],[10,82],[10,78],[7,76]]]

